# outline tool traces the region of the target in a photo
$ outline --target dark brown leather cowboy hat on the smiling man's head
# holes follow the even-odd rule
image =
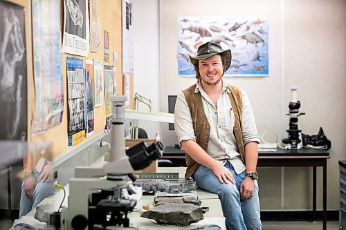
[[[230,52],[230,49],[222,50],[221,46],[211,41],[208,41],[207,43],[199,46],[197,50],[197,56],[189,55],[189,57],[192,64],[198,66],[199,60],[207,59],[208,57],[212,57],[212,55],[221,55],[226,58],[226,63],[225,63],[226,68],[224,68],[224,71],[226,72],[226,70],[228,70],[228,68],[230,67],[232,53]]]

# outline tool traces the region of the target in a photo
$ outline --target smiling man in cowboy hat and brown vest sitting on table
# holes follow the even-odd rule
[[[244,90],[222,79],[231,51],[207,42],[190,60],[198,81],[178,95],[174,110],[185,178],[219,195],[228,229],[262,229],[253,111]]]

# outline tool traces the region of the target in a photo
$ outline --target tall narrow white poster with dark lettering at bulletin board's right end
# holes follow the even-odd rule
[[[132,1],[122,0],[122,73],[134,72]]]

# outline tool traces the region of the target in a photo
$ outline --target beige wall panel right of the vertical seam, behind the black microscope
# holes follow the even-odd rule
[[[284,2],[284,100],[290,97],[288,87],[298,84],[302,110],[307,113],[300,117],[300,128],[303,133],[316,134],[322,126],[331,140],[327,209],[338,209],[338,160],[346,159],[346,1]],[[308,183],[298,178],[301,171],[287,169],[286,176],[293,184],[298,184],[294,180]],[[322,180],[318,182],[322,184]],[[287,198],[288,203],[294,204],[294,200],[293,196]]]

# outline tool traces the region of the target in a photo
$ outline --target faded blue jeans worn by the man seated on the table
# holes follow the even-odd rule
[[[226,162],[224,166],[233,174],[236,184],[230,182],[228,182],[228,184],[221,184],[214,173],[203,165],[199,166],[192,175],[192,178],[196,181],[199,188],[219,195],[228,229],[262,229],[257,180],[255,180],[253,197],[241,201],[239,188],[240,184],[242,184],[242,181],[246,177],[246,171],[238,175],[230,162]]]

